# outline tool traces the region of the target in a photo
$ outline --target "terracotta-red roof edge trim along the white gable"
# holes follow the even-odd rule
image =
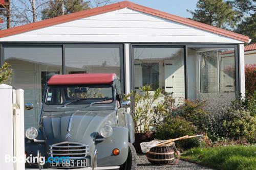
[[[132,9],[135,11],[154,15],[154,16],[161,17],[161,18],[164,18],[167,20],[172,20],[172,21],[181,23],[183,25],[187,25],[187,26],[194,27],[194,28],[197,28],[200,30],[212,32],[212,33],[219,34],[219,35],[229,37],[232,39],[236,39],[236,40],[240,40],[240,41],[244,41],[244,42],[249,41],[249,37],[247,37],[247,36],[237,34],[237,33],[231,32],[231,31],[227,31],[224,29],[220,29],[220,28],[217,28],[214,26],[209,26],[209,25],[206,25],[201,22],[197,22],[197,21],[190,20],[187,18],[179,17],[176,15],[172,15],[172,14],[158,11],[155,9],[140,6],[140,5],[131,3],[129,1],[123,1],[120,3],[115,3],[115,4],[107,5],[104,7],[98,7],[98,8],[94,8],[94,9],[90,9],[90,10],[84,10],[84,11],[76,12],[76,13],[65,15],[65,16],[59,16],[59,17],[55,17],[55,18],[51,18],[51,19],[46,19],[46,20],[30,23],[30,24],[24,25],[24,26],[18,26],[18,27],[14,27],[11,29],[7,29],[7,30],[1,30],[0,38],[32,31],[32,30],[36,30],[36,29],[40,29],[40,28],[46,28],[46,27],[58,25],[58,24],[64,23],[64,22],[69,22],[69,21],[73,21],[73,20],[77,20],[77,19],[81,19],[81,18],[86,18],[89,16],[94,16],[94,15],[107,13],[107,12],[111,12],[111,11],[116,11],[116,10],[123,9],[123,8],[129,8],[129,9]]]

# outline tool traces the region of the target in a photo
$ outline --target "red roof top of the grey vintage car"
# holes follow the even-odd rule
[[[55,75],[50,78],[48,85],[111,84],[115,77],[116,74]]]

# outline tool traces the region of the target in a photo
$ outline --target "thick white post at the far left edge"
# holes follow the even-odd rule
[[[14,168],[13,158],[13,110],[12,110],[12,86],[0,85],[0,167],[1,169]],[[9,158],[9,159],[8,159]]]

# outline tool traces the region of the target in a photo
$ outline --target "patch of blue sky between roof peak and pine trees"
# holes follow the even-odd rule
[[[191,14],[186,11],[195,10],[197,0],[129,0],[130,2],[154,8],[160,11],[168,12],[170,14],[191,17]]]

